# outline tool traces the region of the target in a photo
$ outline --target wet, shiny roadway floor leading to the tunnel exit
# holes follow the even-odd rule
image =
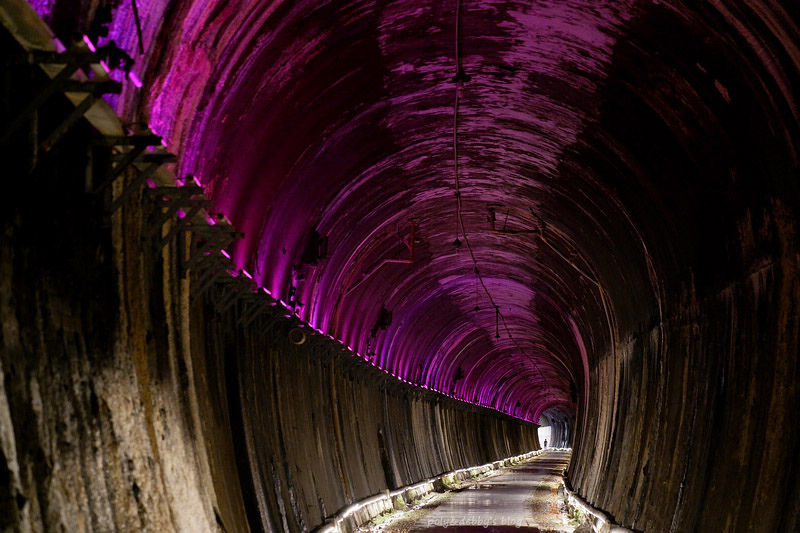
[[[569,452],[548,451],[371,528],[382,532],[572,532],[558,488]]]

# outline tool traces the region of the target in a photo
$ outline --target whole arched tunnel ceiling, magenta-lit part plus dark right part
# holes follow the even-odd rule
[[[712,233],[692,213],[752,166],[735,147],[794,153],[791,17],[696,4],[464,0],[457,88],[456,1],[162,0],[120,107],[301,318],[410,382],[572,415],[593,358],[715,252],[682,235]],[[127,3],[110,37],[136,49]],[[731,133],[754,108],[781,118]]]

